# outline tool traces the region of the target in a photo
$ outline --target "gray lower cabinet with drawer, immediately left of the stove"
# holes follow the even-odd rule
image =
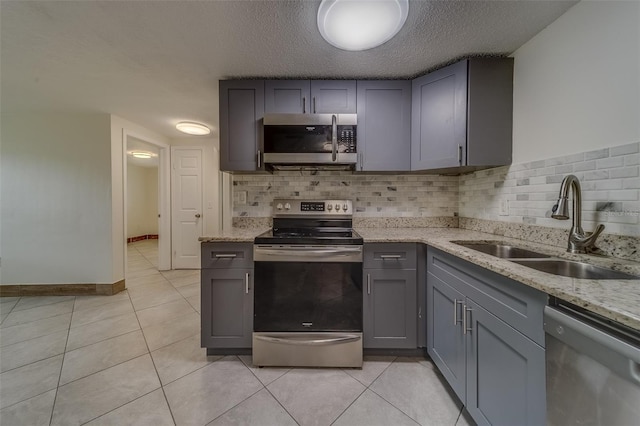
[[[252,255],[251,244],[202,244],[201,345],[208,354],[251,348]]]

